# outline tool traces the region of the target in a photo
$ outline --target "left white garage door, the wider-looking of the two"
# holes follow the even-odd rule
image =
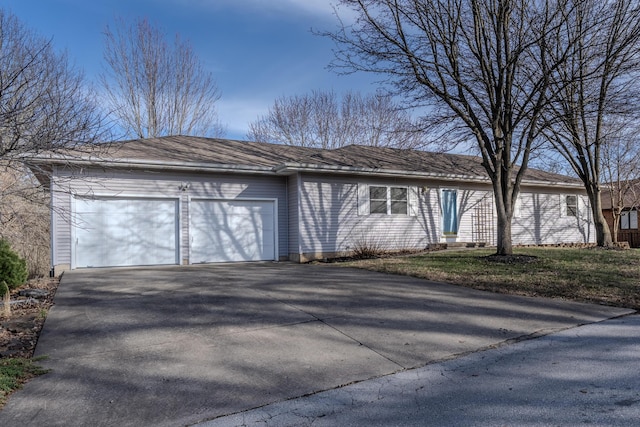
[[[176,199],[75,200],[75,266],[178,263]]]

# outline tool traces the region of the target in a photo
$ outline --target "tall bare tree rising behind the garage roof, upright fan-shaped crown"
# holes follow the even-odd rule
[[[168,44],[146,19],[120,20],[104,37],[100,81],[127,136],[224,134],[215,107],[220,92],[188,41],[176,35]]]

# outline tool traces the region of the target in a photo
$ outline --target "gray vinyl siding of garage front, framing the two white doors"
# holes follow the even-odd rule
[[[287,188],[283,177],[85,170],[81,176],[59,173],[55,182],[59,191],[53,196],[55,211],[58,211],[53,216],[54,265],[71,264],[72,195],[179,199],[180,257],[185,262],[189,256],[190,199],[275,199],[278,207],[278,254],[288,254]],[[180,190],[183,183],[189,184],[188,190]]]

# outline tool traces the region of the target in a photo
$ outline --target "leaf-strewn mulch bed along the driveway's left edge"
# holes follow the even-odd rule
[[[0,299],[0,358],[33,357],[58,283],[57,278],[33,279],[12,290],[9,316]]]

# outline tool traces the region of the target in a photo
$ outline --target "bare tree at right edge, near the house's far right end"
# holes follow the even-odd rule
[[[608,246],[612,236],[602,213],[602,156],[606,141],[617,139],[614,124],[637,120],[640,5],[635,0],[566,3],[566,25],[556,44],[563,49],[554,54],[568,52],[568,60],[551,73],[553,102],[545,111],[544,134],[584,183],[597,243]]]

